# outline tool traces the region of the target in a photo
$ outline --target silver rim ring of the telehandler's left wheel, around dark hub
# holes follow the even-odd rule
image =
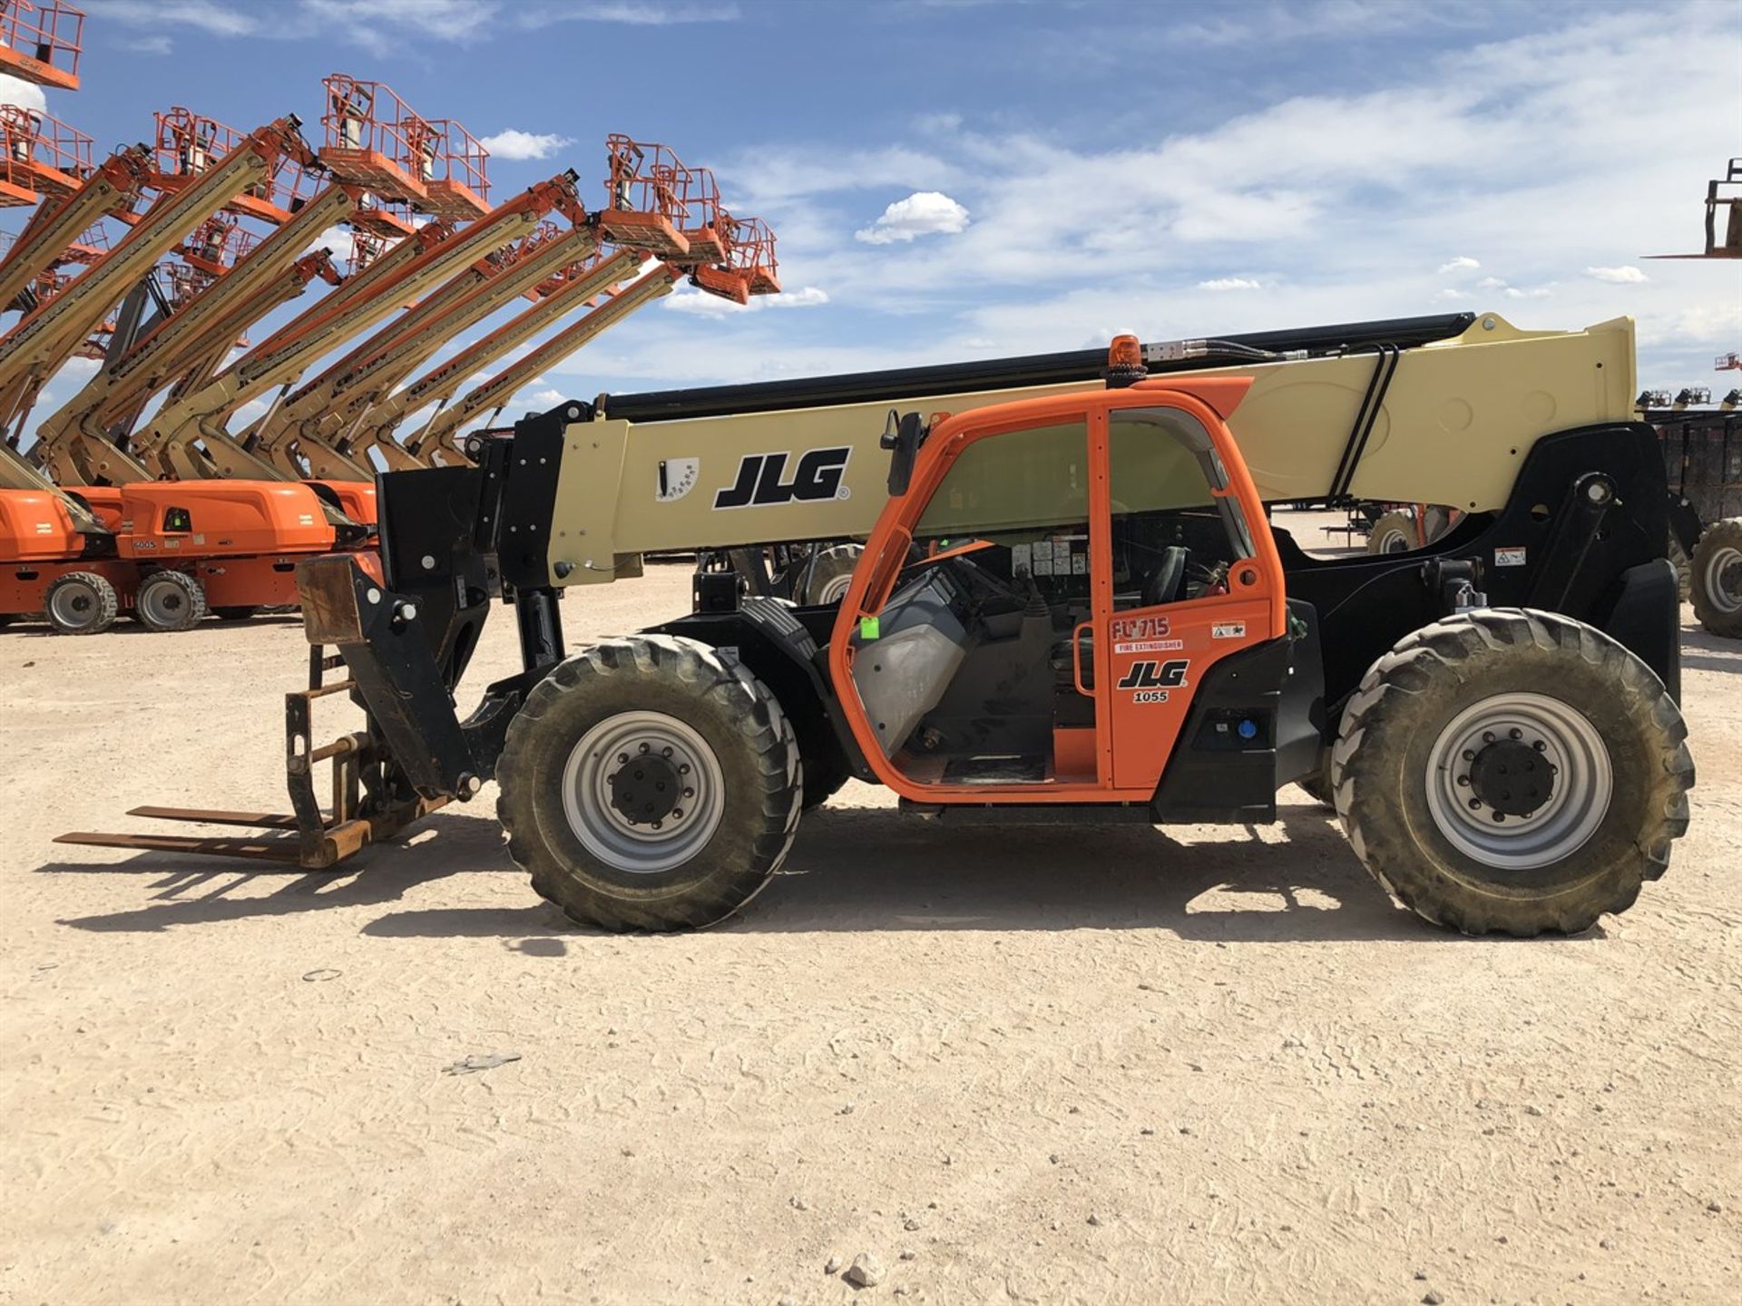
[[[613,804],[611,777],[655,756],[676,771],[683,791],[671,815],[631,822]],[[563,811],[582,846],[617,871],[657,874],[695,857],[719,827],[726,782],[719,759],[695,730],[664,712],[618,712],[585,735],[563,766]]]

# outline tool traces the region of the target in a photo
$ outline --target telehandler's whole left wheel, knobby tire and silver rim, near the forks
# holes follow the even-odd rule
[[[606,930],[735,912],[793,845],[805,787],[768,688],[730,653],[676,636],[557,665],[509,726],[496,782],[516,865],[571,921]]]

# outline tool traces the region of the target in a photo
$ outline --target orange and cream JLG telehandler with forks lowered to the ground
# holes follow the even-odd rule
[[[300,568],[294,815],[63,838],[324,867],[495,780],[538,893],[667,930],[742,907],[847,777],[1000,825],[1270,822],[1308,780],[1385,888],[1469,933],[1583,930],[1664,872],[1693,763],[1629,320],[1122,338],[1094,385],[1084,362],[570,402],[470,439],[476,467],[383,474],[383,575]],[[1266,519],[1338,496],[1465,515],[1338,561]],[[834,604],[702,573],[692,613],[563,646],[561,592],[646,552],[822,538],[866,542]],[[462,717],[493,575],[524,670]],[[315,747],[327,693],[368,730]]]

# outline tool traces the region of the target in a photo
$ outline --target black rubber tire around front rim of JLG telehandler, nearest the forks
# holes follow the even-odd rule
[[[573,798],[564,792],[577,745],[625,714],[693,731],[718,763],[718,825],[669,869],[603,860],[568,813],[585,794],[580,784]],[[509,726],[496,782],[509,855],[533,888],[577,925],[615,932],[692,930],[732,916],[786,858],[805,792],[798,740],[768,686],[735,656],[676,636],[617,639],[559,663]]]

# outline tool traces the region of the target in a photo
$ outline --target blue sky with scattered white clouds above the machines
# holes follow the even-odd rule
[[[1735,3],[85,7],[84,89],[49,110],[99,148],[169,104],[319,143],[348,71],[505,141],[498,197],[573,165],[598,200],[625,131],[772,223],[786,296],[681,291],[516,407],[1456,308],[1632,313],[1651,385],[1728,388],[1742,347],[1742,263],[1641,258],[1698,246],[1742,155]]]

